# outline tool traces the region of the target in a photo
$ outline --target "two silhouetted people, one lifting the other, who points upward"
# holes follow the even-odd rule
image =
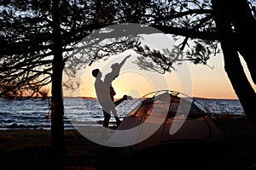
[[[114,63],[113,65],[111,65],[112,71],[105,76],[104,82],[102,82],[102,72],[99,69],[95,69],[92,71],[92,76],[96,77],[96,81],[94,84],[96,89],[96,96],[100,105],[102,105],[102,110],[104,114],[103,127],[108,127],[111,113],[113,114],[117,122],[117,126],[119,126],[119,124],[121,123],[115,107],[119,105],[122,101],[126,100],[127,95],[124,95],[122,99],[114,101],[113,96],[116,93],[112,87],[112,82],[116,77],[119,76],[121,66],[125,64],[125,60],[128,59],[130,56],[131,55],[125,57],[125,59],[120,64]]]

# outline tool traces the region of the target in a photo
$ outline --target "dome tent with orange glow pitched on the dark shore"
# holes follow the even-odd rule
[[[229,143],[212,122],[212,114],[185,94],[161,90],[143,96],[136,104],[125,113],[108,143],[132,145],[135,150],[184,143]]]

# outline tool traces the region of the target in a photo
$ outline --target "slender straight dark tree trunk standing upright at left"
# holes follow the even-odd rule
[[[54,0],[52,5],[53,54],[52,62],[52,97],[51,97],[51,142],[56,151],[65,150],[64,144],[64,106],[62,98],[62,47],[59,1]]]

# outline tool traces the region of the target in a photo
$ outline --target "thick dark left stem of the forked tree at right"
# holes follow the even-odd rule
[[[230,2],[231,3],[231,2]],[[229,2],[212,0],[214,20],[218,29],[221,48],[224,53],[224,69],[241,102],[248,119],[256,125],[256,114],[253,114],[256,101],[255,92],[247,80],[238,54],[238,37],[234,32]],[[239,13],[239,11],[236,11]]]

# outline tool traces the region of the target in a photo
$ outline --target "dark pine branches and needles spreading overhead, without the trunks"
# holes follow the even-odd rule
[[[253,2],[250,3],[255,12]],[[52,74],[52,1],[4,0],[0,9],[0,92],[12,84],[13,89],[33,89],[49,84]],[[208,0],[147,0],[147,1],[67,1],[60,3],[61,46],[63,63],[69,52],[92,31],[118,23],[140,23],[172,34],[184,50],[184,59],[194,64],[207,65],[211,55],[220,52],[218,36]],[[112,44],[102,47],[90,58],[90,64],[97,59],[108,59],[110,54],[122,52],[117,44],[125,47],[134,44],[141,55],[137,65],[147,69],[148,65],[159,65],[158,71],[172,71],[175,68],[166,52],[154,51],[145,46],[138,47],[127,39],[116,38]],[[126,48],[127,49],[127,48]],[[115,50],[115,51],[114,51]],[[101,53],[102,51],[105,52]],[[150,56],[150,57],[149,57]],[[149,59],[149,58],[150,59]],[[146,60],[150,60],[145,63]],[[61,64],[60,64],[61,65]],[[67,64],[66,64],[67,65]],[[163,66],[166,65],[166,66]],[[153,68],[153,67],[150,68]]]

